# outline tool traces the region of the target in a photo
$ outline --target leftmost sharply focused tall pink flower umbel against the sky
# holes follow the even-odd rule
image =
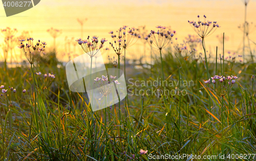
[[[45,50],[46,42],[41,42],[38,40],[35,44],[33,43],[33,38],[27,38],[26,46],[24,44],[25,39],[20,39],[20,46],[18,48],[22,49],[25,57],[30,64],[33,64],[35,60],[41,55],[42,51]]]

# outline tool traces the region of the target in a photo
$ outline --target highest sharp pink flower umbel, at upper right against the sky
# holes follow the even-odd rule
[[[188,21],[191,27],[195,30],[195,32],[201,37],[205,38],[211,35],[217,28],[220,28],[219,24],[216,21],[212,23],[212,21],[207,20],[204,15],[204,21],[200,21],[200,16],[198,15],[198,22],[196,21]]]

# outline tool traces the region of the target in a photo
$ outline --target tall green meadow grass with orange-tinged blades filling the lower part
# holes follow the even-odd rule
[[[68,90],[65,67],[61,64],[58,67],[41,61],[35,64],[34,72],[42,72],[34,75],[36,87],[28,64],[7,71],[1,67],[1,85],[8,89],[1,97],[0,106],[1,160],[148,160],[148,154],[225,154],[224,160],[231,160],[228,154],[254,154],[255,98],[251,76],[255,64],[233,63],[230,70],[232,62],[225,62],[223,75],[237,74],[239,78],[221,100],[203,83],[207,77],[203,61],[184,59],[169,48],[163,53],[162,61],[156,55],[158,59],[152,69],[126,72],[126,80],[157,80],[162,76],[163,64],[164,78],[180,79],[178,88],[185,89],[187,95],[131,96],[128,93],[130,106],[125,108],[124,100],[121,101],[121,111],[114,105],[105,111],[92,112],[84,93]],[[216,62],[208,61],[211,75],[221,73]],[[56,75],[45,79],[44,73]],[[194,86],[182,87],[184,81],[194,81]],[[16,93],[8,86],[15,88]],[[37,111],[34,87],[38,92]],[[161,87],[154,90],[157,88]],[[23,89],[27,90],[25,94]],[[148,151],[143,154],[141,149]],[[252,156],[248,160],[253,160]]]

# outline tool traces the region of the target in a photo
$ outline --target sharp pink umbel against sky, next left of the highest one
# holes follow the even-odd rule
[[[158,25],[156,26],[158,31],[151,30],[150,34],[147,35],[144,39],[150,39],[150,42],[156,46],[158,49],[163,49],[172,39],[176,31],[171,33],[170,31],[165,31],[166,27]]]

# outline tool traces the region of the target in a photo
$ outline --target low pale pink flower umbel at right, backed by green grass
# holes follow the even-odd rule
[[[215,75],[207,80],[204,81],[205,84],[211,84],[212,86],[209,86],[210,89],[214,90],[220,97],[224,97],[230,89],[233,87],[233,85],[236,83],[236,79],[238,77],[236,75],[231,76],[219,76]]]

